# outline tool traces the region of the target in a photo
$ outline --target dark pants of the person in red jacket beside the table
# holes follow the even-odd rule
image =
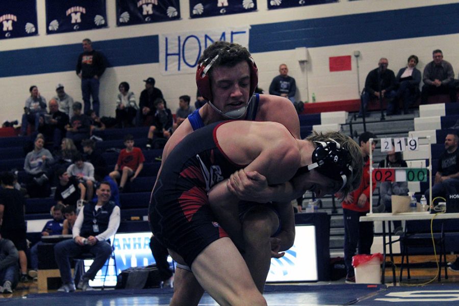
[[[368,212],[355,212],[343,209],[344,218],[344,263],[349,276],[354,275],[352,256],[359,247],[359,254],[371,254],[373,244],[373,222],[360,222]]]

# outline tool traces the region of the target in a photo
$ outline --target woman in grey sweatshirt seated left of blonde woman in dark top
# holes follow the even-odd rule
[[[38,134],[34,149],[25,156],[24,170],[27,174],[27,192],[30,197],[47,197],[50,193],[49,176],[54,158],[43,148],[44,137]]]

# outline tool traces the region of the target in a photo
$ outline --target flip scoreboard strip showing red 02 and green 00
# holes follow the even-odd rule
[[[425,168],[376,168],[373,169],[376,182],[427,182]]]

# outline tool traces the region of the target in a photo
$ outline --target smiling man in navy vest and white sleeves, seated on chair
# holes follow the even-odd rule
[[[94,262],[89,270],[81,276],[77,288],[83,291],[93,290],[89,280],[94,279],[109,259],[112,247],[108,241],[118,230],[120,210],[112,201],[109,201],[110,183],[101,182],[96,190],[97,202],[89,202],[83,207],[73,225],[73,240],[59,242],[54,247],[56,262],[62,279],[60,292],[75,291],[75,284],[70,272],[70,258],[82,253],[94,255]]]

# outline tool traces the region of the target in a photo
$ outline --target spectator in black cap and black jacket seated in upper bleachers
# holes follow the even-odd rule
[[[139,118],[141,126],[149,126],[156,113],[155,101],[158,98],[163,98],[163,93],[155,87],[154,78],[148,78],[143,82],[145,82],[145,89],[140,93]]]

